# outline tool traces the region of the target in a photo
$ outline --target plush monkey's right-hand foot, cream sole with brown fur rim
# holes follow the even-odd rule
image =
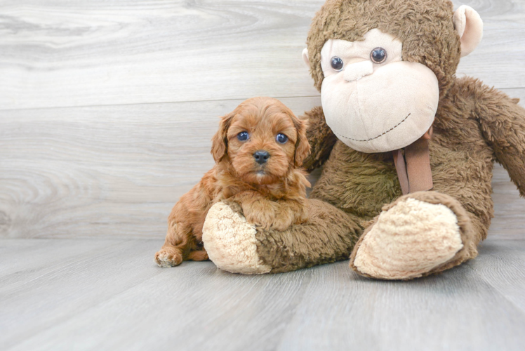
[[[413,279],[476,256],[465,209],[446,194],[416,192],[383,208],[361,235],[350,267],[365,277]]]

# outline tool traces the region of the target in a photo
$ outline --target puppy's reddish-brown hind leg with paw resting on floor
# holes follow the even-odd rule
[[[182,223],[170,223],[162,248],[155,253],[159,267],[175,267],[187,260],[192,249],[192,228]],[[197,252],[197,251],[194,251]]]

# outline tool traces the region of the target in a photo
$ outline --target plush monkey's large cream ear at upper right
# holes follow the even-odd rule
[[[460,36],[461,57],[472,53],[483,37],[483,21],[474,8],[463,5],[454,13],[454,27]]]

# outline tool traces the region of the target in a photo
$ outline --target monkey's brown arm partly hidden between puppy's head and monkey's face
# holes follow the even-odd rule
[[[304,118],[308,120],[306,135],[311,149],[303,167],[310,172],[324,164],[338,139],[326,124],[322,107],[314,107],[312,111],[305,113]]]

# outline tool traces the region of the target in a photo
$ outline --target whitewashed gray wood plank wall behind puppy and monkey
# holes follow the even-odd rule
[[[323,2],[0,1],[0,237],[164,237],[219,116],[320,105],[301,51]],[[460,4],[485,32],[458,75],[525,99],[525,1]],[[522,233],[503,168],[493,185],[491,233]]]

